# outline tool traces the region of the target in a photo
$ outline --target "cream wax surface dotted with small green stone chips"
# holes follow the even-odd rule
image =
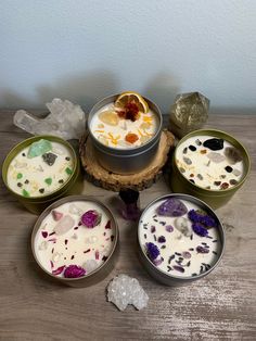
[[[51,142],[56,159],[48,165],[42,155],[27,157],[29,146],[11,161],[8,168],[8,185],[15,193],[24,197],[47,195],[62,187],[74,168],[72,152],[64,144]]]

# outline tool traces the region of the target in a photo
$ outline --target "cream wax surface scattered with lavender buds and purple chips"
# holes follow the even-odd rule
[[[206,271],[206,267],[210,268],[220,252],[220,237],[217,228],[208,230],[208,237],[201,237],[192,231],[191,236],[184,236],[176,227],[177,217],[161,216],[157,214],[157,207],[165,202],[165,200],[154,203],[146,210],[140,220],[139,225],[139,241],[140,245],[146,253],[146,244],[154,243],[161,254],[162,263],[157,268],[164,273],[178,276],[191,277]],[[183,201],[190,210],[199,210],[195,204]],[[192,222],[188,218],[188,213],[182,216],[188,219],[189,229],[192,230]],[[164,237],[165,242],[161,242]],[[163,241],[163,238],[162,238]],[[206,248],[208,253],[199,253],[197,247]],[[182,267],[183,273],[176,269],[177,266]]]

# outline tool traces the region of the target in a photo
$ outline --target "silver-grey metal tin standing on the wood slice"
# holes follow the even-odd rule
[[[149,108],[153,110],[158,117],[159,126],[156,134],[146,143],[137,148],[115,149],[104,146],[93,136],[90,127],[91,119],[95,112],[98,112],[102,106],[115,102],[118,96],[119,93],[106,97],[92,108],[88,117],[89,136],[94,147],[95,156],[105,169],[117,174],[135,174],[142,171],[154,159],[158,149],[163,117],[158,106],[151,100],[143,97],[148,102]]]

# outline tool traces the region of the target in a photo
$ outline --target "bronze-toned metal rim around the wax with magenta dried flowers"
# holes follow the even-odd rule
[[[57,277],[57,276],[49,273],[44,267],[41,266],[40,262],[37,258],[36,251],[35,251],[35,239],[36,239],[36,235],[37,235],[37,232],[38,232],[38,230],[39,230],[39,228],[41,226],[42,220],[51,213],[52,210],[57,209],[62,204],[65,204],[65,203],[68,203],[68,202],[74,202],[74,201],[90,201],[92,203],[97,203],[104,211],[106,211],[107,215],[111,217],[112,222],[114,223],[115,239],[114,239],[114,243],[113,243],[113,247],[112,247],[112,251],[111,251],[107,260],[101,266],[95,268],[93,271],[89,273],[88,275],[85,275],[82,277],[77,277],[77,278]],[[105,269],[107,267],[110,268],[111,267],[111,262],[113,261],[113,257],[114,257],[115,252],[116,252],[117,247],[118,247],[118,240],[119,240],[119,230],[118,230],[118,225],[117,225],[117,222],[115,219],[114,214],[100,200],[97,200],[93,197],[89,197],[89,195],[69,195],[69,197],[62,198],[62,199],[55,201],[54,203],[52,203],[37,218],[37,222],[36,222],[36,224],[33,227],[33,232],[31,232],[31,238],[30,238],[33,256],[34,256],[37,265],[40,267],[40,269],[42,269],[42,271],[46,275],[50,276],[51,278],[53,278],[53,279],[55,279],[57,281],[66,282],[66,283],[79,282],[79,281],[86,281],[86,280],[89,281],[91,278],[95,277],[95,275],[100,274],[102,269]],[[95,278],[95,282],[97,281],[98,280]]]

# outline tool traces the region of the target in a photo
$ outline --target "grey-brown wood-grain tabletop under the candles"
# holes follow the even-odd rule
[[[13,112],[0,111],[1,164],[9,150],[29,137],[14,127]],[[137,226],[118,216],[120,254],[115,269],[97,286],[74,289],[52,283],[36,270],[30,233],[37,219],[1,180],[0,340],[256,340],[256,115],[212,114],[208,127],[234,135],[248,149],[251,176],[217,210],[227,231],[221,264],[206,278],[181,288],[164,287],[141,266]],[[90,194],[112,206],[116,193],[84,182]],[[141,207],[170,192],[164,178],[141,192]],[[142,311],[119,312],[105,288],[118,274],[136,277],[150,296]]]

